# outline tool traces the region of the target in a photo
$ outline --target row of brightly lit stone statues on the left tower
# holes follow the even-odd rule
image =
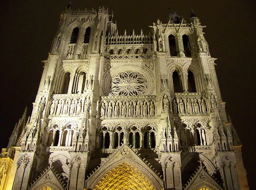
[[[90,97],[84,98],[66,98],[53,99],[50,106],[49,115],[79,115],[84,111],[89,111],[91,105]]]

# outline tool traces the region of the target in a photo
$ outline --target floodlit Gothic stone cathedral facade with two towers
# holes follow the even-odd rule
[[[204,27],[175,12],[119,34],[108,9],[68,5],[0,189],[249,189]]]

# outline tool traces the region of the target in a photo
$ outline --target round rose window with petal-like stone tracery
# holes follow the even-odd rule
[[[144,95],[148,89],[148,81],[137,71],[123,71],[112,77],[109,86],[113,95]]]

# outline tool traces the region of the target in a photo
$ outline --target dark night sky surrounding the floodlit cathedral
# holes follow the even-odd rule
[[[1,1],[1,118],[0,148],[5,148],[13,126],[26,106],[31,113],[60,13],[69,0]],[[256,189],[255,162],[255,4],[252,1],[92,1],[73,0],[72,8],[99,6],[114,11],[119,34],[131,29],[148,33],[159,18],[168,19],[168,10],[188,21],[190,8],[200,19],[215,66],[222,99],[242,141],[244,166],[249,186]]]

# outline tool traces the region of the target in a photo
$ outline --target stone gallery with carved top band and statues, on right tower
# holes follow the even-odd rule
[[[210,112],[208,100],[205,99],[203,93],[174,93],[170,99],[174,114],[207,114]]]

